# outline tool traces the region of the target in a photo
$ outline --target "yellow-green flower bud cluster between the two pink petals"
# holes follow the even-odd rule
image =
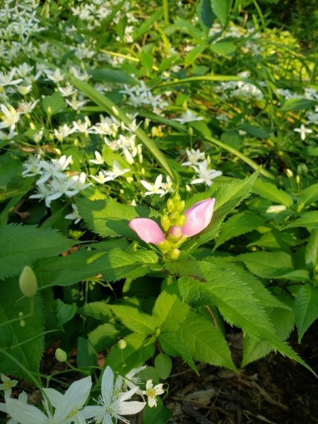
[[[171,199],[167,200],[167,207],[160,218],[161,228],[165,232],[165,241],[158,244],[161,252],[170,261],[177,261],[180,256],[179,246],[187,239],[182,235],[181,227],[187,221],[182,211],[184,210],[185,201],[181,200],[178,193],[175,193]],[[171,228],[177,227],[173,234],[169,233]]]

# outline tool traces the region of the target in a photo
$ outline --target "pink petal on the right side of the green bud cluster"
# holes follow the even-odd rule
[[[182,227],[182,234],[192,237],[204,230],[211,223],[215,202],[216,199],[206,199],[187,209],[184,212],[187,222]]]

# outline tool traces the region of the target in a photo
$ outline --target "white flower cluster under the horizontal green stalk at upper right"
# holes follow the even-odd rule
[[[237,74],[241,78],[249,78],[248,71]],[[259,86],[264,86],[263,81],[259,81]],[[226,81],[214,88],[216,93],[223,93],[220,97],[223,99],[230,97],[243,98],[246,100],[262,100],[264,98],[261,90],[252,83],[246,81]],[[225,93],[226,92],[226,93]]]

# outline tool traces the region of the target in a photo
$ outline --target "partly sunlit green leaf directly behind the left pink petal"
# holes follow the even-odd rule
[[[119,204],[111,198],[95,201],[77,199],[76,206],[88,228],[102,237],[120,236],[140,241],[136,232],[129,228],[129,221],[133,218],[158,216],[158,213],[151,209]]]

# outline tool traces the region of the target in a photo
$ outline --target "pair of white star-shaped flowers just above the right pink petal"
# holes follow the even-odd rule
[[[186,150],[188,160],[182,163],[182,166],[192,167],[196,172],[196,178],[192,179],[191,184],[206,184],[210,187],[213,184],[213,179],[222,175],[221,171],[209,169],[210,156],[206,158],[204,152],[199,151],[199,148],[190,151]]]

